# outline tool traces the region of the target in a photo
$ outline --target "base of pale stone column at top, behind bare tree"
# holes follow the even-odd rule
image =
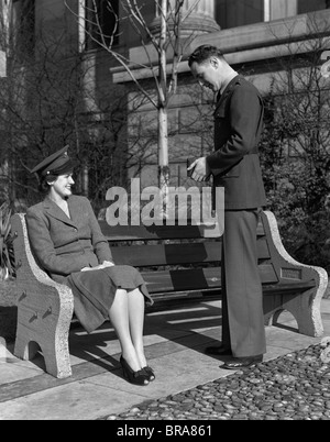
[[[176,0],[168,0],[168,9],[175,9]],[[194,10],[191,11],[191,8]],[[190,12],[191,11],[191,12]],[[216,22],[216,1],[215,0],[185,0],[182,8],[182,37],[187,38],[191,35],[206,34],[220,31]],[[151,30],[155,36],[160,34],[160,10],[155,5],[155,20],[151,24]],[[170,26],[170,20],[169,20]]]

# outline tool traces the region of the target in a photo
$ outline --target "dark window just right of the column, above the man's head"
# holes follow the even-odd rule
[[[264,0],[216,0],[216,20],[222,30],[264,21]]]

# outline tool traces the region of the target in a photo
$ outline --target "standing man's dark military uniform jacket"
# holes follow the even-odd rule
[[[234,77],[215,111],[215,152],[207,157],[217,187],[224,187],[224,209],[255,209],[266,203],[257,144],[263,128],[258,90]]]

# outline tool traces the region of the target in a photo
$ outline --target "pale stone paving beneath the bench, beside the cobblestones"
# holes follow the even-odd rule
[[[324,336],[330,335],[330,300],[322,301],[321,310]],[[70,332],[73,376],[67,379],[44,373],[41,356],[36,362],[20,361],[11,349],[3,357],[2,349],[0,420],[94,420],[228,376],[232,372],[219,368],[219,358],[204,353],[220,338],[220,314],[218,301],[147,314],[146,356],[156,372],[147,387],[122,378],[119,343],[109,324],[90,335]],[[265,361],[320,342],[297,333],[294,322],[284,316],[280,328],[266,328]]]

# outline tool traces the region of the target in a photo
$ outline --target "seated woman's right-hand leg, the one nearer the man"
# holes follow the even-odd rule
[[[128,294],[129,320],[132,342],[142,367],[146,366],[143,345],[144,296],[136,288]]]

